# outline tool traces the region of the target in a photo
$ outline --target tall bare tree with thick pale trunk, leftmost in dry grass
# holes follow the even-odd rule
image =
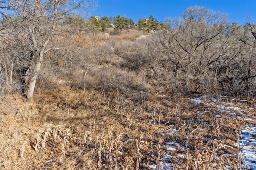
[[[0,34],[5,44],[2,52],[11,53],[11,65],[22,66],[20,73],[28,99],[33,98],[46,53],[63,47],[63,44],[52,45],[54,36],[61,31],[63,17],[89,12],[94,7],[93,0],[0,0],[3,18]]]

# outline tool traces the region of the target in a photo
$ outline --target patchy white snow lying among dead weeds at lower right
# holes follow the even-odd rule
[[[165,97],[165,96],[163,96]],[[256,118],[251,118],[248,117],[248,115],[245,113],[245,111],[240,108],[238,105],[242,106],[242,103],[240,102],[236,102],[236,104],[234,104],[235,101],[237,101],[236,99],[232,99],[230,102],[224,102],[221,101],[220,99],[216,99],[214,97],[212,97],[211,95],[209,96],[204,96],[204,97],[198,97],[195,99],[190,99],[192,101],[195,102],[195,105],[199,105],[199,104],[204,104],[206,106],[214,106],[216,107],[216,109],[223,111],[223,112],[227,112],[228,115],[230,115],[230,117],[232,117],[232,119],[242,119],[242,120],[249,120],[249,121],[256,121]],[[207,102],[205,102],[207,101]],[[241,102],[245,102],[246,100],[240,100]],[[238,105],[237,105],[238,104]],[[252,107],[247,107],[248,109],[253,109],[255,110],[255,108]],[[198,111],[198,113],[200,115],[204,115],[204,112],[202,111]],[[237,115],[237,114],[240,115]],[[222,118],[221,115],[212,115],[214,117],[217,118]],[[228,116],[226,116],[226,118],[230,118]],[[204,123],[207,124],[207,123]],[[173,129],[171,132],[168,132],[166,134],[169,135],[173,135],[174,132],[178,132],[178,130]],[[180,144],[176,143],[176,142],[169,142],[168,144],[166,144],[167,147],[167,151],[172,151],[175,152],[176,151],[176,147],[180,148]],[[234,145],[235,147],[240,147],[240,154],[243,158],[243,164],[241,165],[241,167],[226,167],[227,169],[247,169],[249,168],[250,170],[256,170],[256,125],[246,125],[246,127],[241,129],[241,134],[240,134],[240,140],[239,140],[239,144],[236,143]],[[228,147],[232,147],[232,146],[228,146]],[[186,149],[186,148],[183,148]],[[178,154],[179,158],[182,158],[184,155],[182,154]],[[167,161],[170,158],[176,158],[175,156],[172,155],[164,155],[164,161],[160,162],[157,165],[149,165],[148,168],[151,168],[153,170],[172,170],[172,164],[171,163],[167,163]],[[179,160],[177,158],[177,160]],[[178,162],[179,164],[179,162]],[[217,166],[217,165],[216,165]]]

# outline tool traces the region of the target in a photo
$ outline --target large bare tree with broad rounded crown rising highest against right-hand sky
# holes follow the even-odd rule
[[[175,77],[178,70],[182,70],[185,89],[189,90],[190,75],[202,75],[206,66],[221,57],[220,53],[210,49],[220,50],[222,44],[218,40],[229,25],[228,17],[205,7],[193,6],[182,14],[182,18],[167,19],[165,25],[166,30],[155,38],[158,50],[173,63]]]

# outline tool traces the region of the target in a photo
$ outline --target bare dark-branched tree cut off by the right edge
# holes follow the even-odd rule
[[[236,41],[233,49],[239,49],[239,57],[232,64],[230,91],[234,95],[256,95],[256,24],[248,22],[243,27],[232,25]]]

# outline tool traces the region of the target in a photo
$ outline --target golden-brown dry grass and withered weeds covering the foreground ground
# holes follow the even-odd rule
[[[68,87],[41,91],[33,103],[8,96],[1,101],[1,168],[128,170],[157,164],[164,154],[184,154],[179,162],[167,161],[180,169],[237,164],[228,156],[236,148],[224,144],[232,146],[238,125],[246,122],[217,119],[210,107],[200,115],[202,106],[172,101],[156,96],[138,103],[118,93]],[[166,134],[174,128],[177,133]],[[170,141],[180,143],[176,152],[163,145]]]

